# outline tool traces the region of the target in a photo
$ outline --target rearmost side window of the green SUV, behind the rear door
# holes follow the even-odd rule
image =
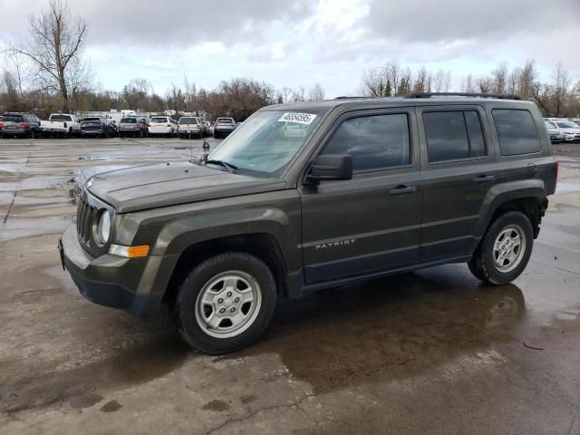
[[[529,111],[496,109],[491,113],[498,131],[502,156],[516,156],[541,150],[536,123]]]

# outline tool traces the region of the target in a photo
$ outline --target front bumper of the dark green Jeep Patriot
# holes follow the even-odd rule
[[[76,227],[66,228],[59,240],[63,268],[71,274],[81,295],[94,304],[121,308],[133,315],[155,314],[162,294],[137,292],[129,288],[128,277],[147,275],[147,258],[123,258],[105,255],[90,256],[79,243]]]

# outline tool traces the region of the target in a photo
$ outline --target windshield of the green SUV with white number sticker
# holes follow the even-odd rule
[[[222,160],[240,171],[275,177],[304,146],[322,115],[258,111],[224,140],[208,160]]]

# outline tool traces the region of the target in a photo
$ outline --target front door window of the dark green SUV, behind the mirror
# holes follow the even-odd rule
[[[328,140],[323,154],[350,154],[354,173],[410,165],[407,115],[363,116],[344,121]]]

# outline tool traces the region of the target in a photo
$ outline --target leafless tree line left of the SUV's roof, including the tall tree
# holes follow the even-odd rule
[[[174,116],[206,111],[243,121],[266,105],[324,100],[318,83],[308,91],[304,87],[276,90],[266,82],[234,78],[206,90],[198,89],[187,75],[163,94],[155,92],[146,78],[131,80],[120,92],[110,91],[95,83],[92,66],[82,56],[87,24],[71,13],[65,0],[49,0],[47,10],[29,17],[28,30],[27,39],[9,43],[0,53],[2,111],[34,111],[40,117],[53,111],[169,110]]]

